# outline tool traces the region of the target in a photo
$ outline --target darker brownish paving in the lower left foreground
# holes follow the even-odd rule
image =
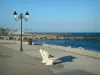
[[[52,71],[40,61],[24,52],[0,44],[0,75],[53,75]]]

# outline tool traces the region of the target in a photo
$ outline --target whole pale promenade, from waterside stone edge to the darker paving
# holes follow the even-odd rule
[[[5,40],[3,41],[5,42]],[[12,40],[12,44],[3,44],[3,46],[14,49],[16,51],[20,51],[20,41]],[[61,63],[52,66],[46,66],[55,75],[60,75],[60,74],[63,75],[63,73],[64,75],[67,75],[69,74],[69,72],[73,73],[76,70],[78,70],[77,72],[79,72],[79,74],[85,73],[84,75],[100,75],[99,52],[91,52],[91,51],[86,52],[82,48],[71,48],[70,46],[62,47],[56,45],[49,45],[45,43],[43,45],[28,45],[25,44],[24,41],[23,41],[23,48],[24,48],[23,52],[25,54],[40,59],[40,62],[42,57],[39,53],[39,49],[46,50],[54,57],[61,59],[62,60]]]

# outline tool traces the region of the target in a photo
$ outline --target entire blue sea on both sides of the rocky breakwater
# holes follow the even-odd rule
[[[100,37],[100,33],[44,33],[57,36],[71,37]],[[36,40],[36,44],[52,44],[58,46],[71,46],[72,48],[82,47],[85,50],[100,52],[100,40]]]

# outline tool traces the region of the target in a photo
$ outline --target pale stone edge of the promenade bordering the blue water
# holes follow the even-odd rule
[[[71,52],[71,53],[76,53],[76,54],[90,56],[90,57],[100,59],[100,52],[84,50],[84,48],[82,48],[82,47],[71,48],[70,46],[69,47],[63,47],[63,46],[56,46],[56,45],[49,45],[49,44],[43,44],[43,46],[48,47],[48,48],[55,48],[55,49],[58,49],[58,50],[63,50],[63,51]]]

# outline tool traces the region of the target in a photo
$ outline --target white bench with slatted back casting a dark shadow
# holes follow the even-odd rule
[[[46,63],[45,65],[53,65],[54,62],[59,62],[58,58],[49,57],[49,53],[40,49],[40,54],[43,58],[42,63]]]

